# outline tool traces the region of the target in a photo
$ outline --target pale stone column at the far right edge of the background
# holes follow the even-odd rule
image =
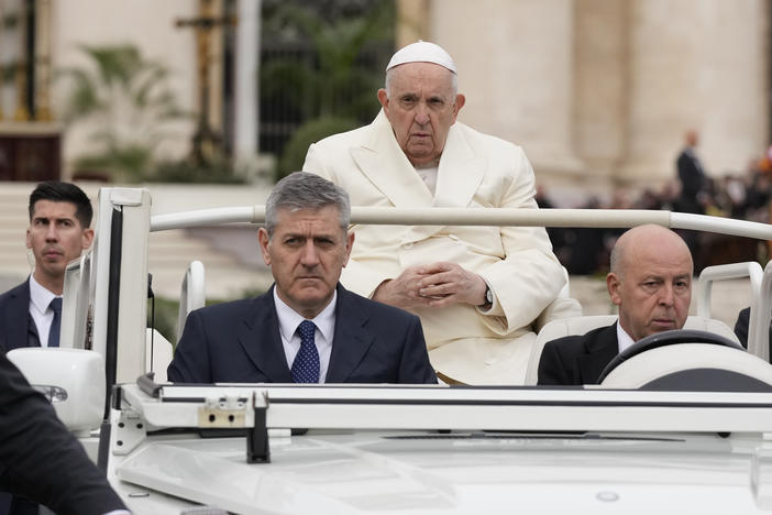
[[[675,177],[683,134],[701,132],[709,175],[740,172],[767,141],[762,0],[631,0],[627,142],[617,179]]]

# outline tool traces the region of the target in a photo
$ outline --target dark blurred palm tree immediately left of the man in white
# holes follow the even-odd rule
[[[264,19],[263,31],[264,41],[295,41],[312,48],[305,62],[278,57],[261,70],[264,101],[283,97],[301,122],[285,146],[278,179],[299,168],[310,143],[353,129],[377,112],[375,91],[385,63],[368,63],[366,51],[383,43],[391,46],[394,4],[374,2],[360,17],[322,17],[308,7],[282,2]]]

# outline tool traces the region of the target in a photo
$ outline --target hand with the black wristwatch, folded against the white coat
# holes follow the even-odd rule
[[[485,304],[485,280],[456,263],[441,261],[419,267],[422,275],[418,294],[429,298],[429,306]]]

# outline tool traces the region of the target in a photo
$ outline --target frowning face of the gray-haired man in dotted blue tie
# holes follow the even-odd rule
[[[349,262],[354,234],[340,226],[335,206],[318,210],[277,210],[278,223],[268,238],[257,234],[263,261],[276,280],[276,293],[287,306],[313,318],[330,303],[343,266]]]

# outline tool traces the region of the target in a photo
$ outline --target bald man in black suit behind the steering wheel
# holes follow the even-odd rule
[[[683,328],[692,273],[692,254],[675,232],[651,224],[625,232],[614,245],[606,276],[618,321],[548,342],[539,361],[539,384],[597,384],[608,362],[636,341]]]

